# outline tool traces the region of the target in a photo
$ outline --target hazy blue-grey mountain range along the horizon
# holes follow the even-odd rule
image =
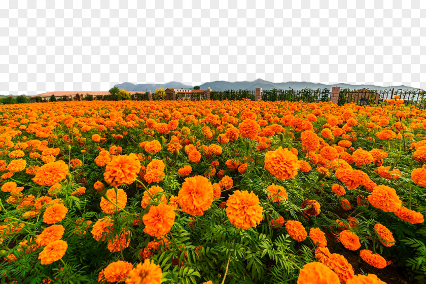
[[[180,82],[169,82],[165,84],[132,84],[132,83],[121,83],[115,85],[120,89],[125,89],[127,91],[153,91],[155,89],[163,88],[164,90],[167,88],[175,88],[175,89],[192,89],[193,86],[185,85]],[[239,90],[239,89],[248,89],[254,90],[255,88],[262,88],[263,90],[272,90],[276,89],[294,89],[301,90],[304,88],[310,89],[324,89],[324,88],[332,88],[332,87],[340,87],[340,88],[349,88],[349,89],[370,89],[370,90],[389,90],[394,88],[395,90],[417,90],[417,88],[412,88],[409,86],[376,86],[376,85],[351,85],[351,84],[320,84],[320,83],[310,83],[310,82],[282,82],[282,83],[273,83],[269,81],[265,81],[262,79],[257,79],[255,81],[240,81],[240,82],[227,82],[227,81],[214,81],[208,82],[199,85],[201,90],[206,90],[208,87],[212,90],[216,91],[225,91],[225,90]]]

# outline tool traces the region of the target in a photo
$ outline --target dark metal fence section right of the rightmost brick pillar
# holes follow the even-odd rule
[[[405,105],[415,105],[418,108],[426,107],[426,92],[423,90],[340,90],[338,104],[357,103],[358,105],[379,104],[386,99],[404,100]]]

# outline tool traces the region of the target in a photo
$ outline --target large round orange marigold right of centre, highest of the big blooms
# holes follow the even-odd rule
[[[279,147],[266,153],[265,168],[278,180],[289,180],[296,176],[299,163],[295,154]]]

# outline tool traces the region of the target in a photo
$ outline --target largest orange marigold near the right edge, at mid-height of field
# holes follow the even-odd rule
[[[399,199],[395,189],[385,185],[376,186],[368,196],[368,201],[376,208],[385,212],[395,212],[401,208],[401,200]]]

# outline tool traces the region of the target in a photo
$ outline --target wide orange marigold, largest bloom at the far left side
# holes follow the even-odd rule
[[[34,183],[42,186],[53,186],[65,179],[68,173],[68,166],[64,161],[47,163],[39,168],[32,178]]]

